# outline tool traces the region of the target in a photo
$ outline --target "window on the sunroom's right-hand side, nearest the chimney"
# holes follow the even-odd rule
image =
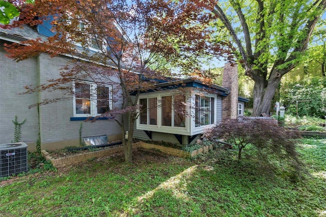
[[[196,95],[195,97],[195,127],[215,123],[215,98]]]

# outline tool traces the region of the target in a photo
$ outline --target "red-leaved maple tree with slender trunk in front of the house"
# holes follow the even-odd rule
[[[24,5],[20,16],[13,25],[42,24],[45,20],[52,24],[53,35],[46,40],[7,45],[10,58],[21,61],[42,52],[52,57],[75,57],[63,67],[61,77],[40,87],[29,87],[28,92],[71,91],[73,80],[112,84],[113,101],[121,102],[121,106],[114,103],[103,116],[115,119],[123,133],[129,131],[127,139],[122,137],[127,163],[132,161],[139,94],[153,88],[160,72],[156,69],[165,68],[161,63],[193,68],[194,56],[221,51],[208,43],[212,14],[205,13],[202,1],[43,0]],[[91,46],[97,51],[89,49]]]

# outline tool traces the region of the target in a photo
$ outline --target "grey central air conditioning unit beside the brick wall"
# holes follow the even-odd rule
[[[27,172],[26,143],[0,144],[0,177]]]

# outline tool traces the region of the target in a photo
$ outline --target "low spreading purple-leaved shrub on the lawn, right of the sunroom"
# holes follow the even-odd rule
[[[238,148],[238,160],[242,150],[250,146],[252,156],[261,162],[286,162],[294,171],[300,170],[300,162],[295,150],[295,139],[300,135],[285,130],[276,121],[243,117],[223,121],[204,133],[204,138],[212,142],[224,140]],[[246,155],[250,157],[249,155]]]

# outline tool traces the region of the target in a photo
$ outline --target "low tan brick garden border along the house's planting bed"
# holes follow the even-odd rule
[[[175,148],[159,146],[159,145],[154,145],[154,144],[149,144],[149,143],[144,143],[144,142],[134,143],[132,148],[153,149],[153,150],[160,151],[162,153],[170,154],[170,155],[177,156],[177,157],[184,157],[184,158],[194,157],[198,154],[206,153],[209,150],[213,149],[213,147],[210,145],[210,146],[203,146],[202,148],[192,151],[192,152],[186,152],[186,151],[175,149]],[[123,147],[116,147],[116,148],[94,151],[94,152],[89,152],[89,153],[76,154],[76,155],[68,156],[68,157],[61,157],[61,158],[57,158],[57,159],[52,158],[50,156],[50,154],[45,150],[42,150],[41,153],[42,153],[42,156],[46,160],[51,161],[53,166],[55,166],[56,168],[60,168],[60,167],[65,167],[67,165],[74,165],[74,164],[77,164],[78,162],[83,162],[83,161],[86,161],[86,160],[94,158],[94,157],[107,156],[107,155],[121,152],[121,151],[123,151]]]

